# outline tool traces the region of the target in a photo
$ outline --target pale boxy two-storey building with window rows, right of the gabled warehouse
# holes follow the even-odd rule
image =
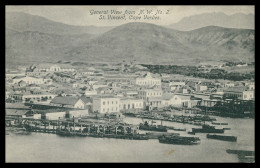
[[[119,112],[120,99],[112,95],[95,96],[92,98],[92,111],[98,113]]]

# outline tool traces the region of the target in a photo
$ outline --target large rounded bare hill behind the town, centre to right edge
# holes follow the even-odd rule
[[[195,63],[254,58],[254,30],[205,27],[181,32],[147,23],[128,23],[68,53],[75,59],[135,59],[142,63]]]

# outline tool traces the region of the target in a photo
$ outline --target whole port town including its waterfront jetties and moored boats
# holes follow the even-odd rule
[[[214,116],[254,118],[254,89],[252,80],[151,73],[132,62],[18,66],[6,72],[6,126],[29,133],[194,145],[200,138],[191,135],[230,130],[215,128],[228,123],[216,122]],[[125,122],[129,117],[143,122]],[[161,124],[154,125],[156,120]],[[196,127],[188,131],[163,122]],[[236,136],[207,134],[207,138],[237,141]]]

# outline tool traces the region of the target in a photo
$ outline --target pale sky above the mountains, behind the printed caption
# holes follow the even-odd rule
[[[105,20],[99,20],[100,14],[91,15],[91,11],[106,11],[111,10],[122,11],[122,13],[127,11],[135,11],[135,14],[127,14],[126,20],[108,20],[107,15],[105,15]],[[159,16],[159,20],[143,20],[143,15],[141,20],[130,20],[130,15],[140,16],[138,13],[140,10],[153,10],[152,16],[156,13],[157,10],[163,11],[163,14]],[[168,14],[166,14],[168,11]],[[140,21],[154,23],[158,25],[169,25],[180,21],[183,17],[188,17],[192,15],[210,13],[210,12],[223,12],[227,15],[232,15],[235,13],[244,13],[244,14],[255,14],[254,6],[43,6],[43,5],[33,5],[33,6],[6,6],[6,12],[25,12],[33,15],[43,16],[47,19],[70,24],[70,25],[94,25],[94,26],[117,26],[128,22]],[[118,14],[117,16],[122,15]],[[154,16],[155,17],[155,16]],[[133,18],[133,17],[132,17]],[[157,18],[158,19],[158,18]]]

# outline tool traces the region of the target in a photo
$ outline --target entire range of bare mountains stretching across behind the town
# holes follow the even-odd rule
[[[6,63],[121,62],[196,64],[254,61],[252,29],[206,26],[180,31],[150,23],[116,27],[71,26],[29,14],[6,17]],[[29,19],[32,17],[34,19]],[[15,19],[13,19],[15,18]]]

